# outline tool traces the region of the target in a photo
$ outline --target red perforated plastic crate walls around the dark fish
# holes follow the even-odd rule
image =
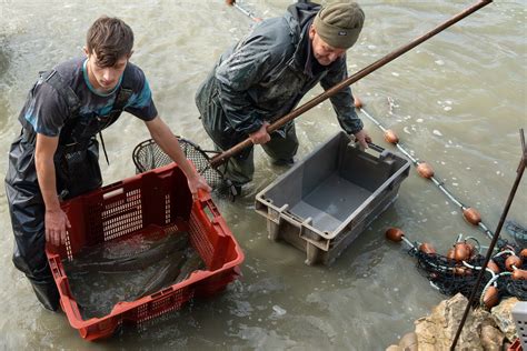
[[[46,253],[60,292],[60,304],[81,337],[111,335],[123,322],[138,324],[180,309],[193,297],[210,297],[239,277],[243,253],[208,194],[192,201],[187,179],[175,164],[138,174],[69,200],[62,204],[71,229],[66,244],[47,243]],[[71,293],[62,260],[72,260],[84,247],[126,235],[159,231],[189,232],[207,270],[131,302],[117,303],[103,318],[83,320]]]

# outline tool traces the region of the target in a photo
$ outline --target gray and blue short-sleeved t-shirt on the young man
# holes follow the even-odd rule
[[[122,77],[112,92],[102,96],[89,82],[86,58],[66,61],[57,66],[54,70],[79,98],[81,120],[103,117],[111,111]],[[128,62],[127,74],[130,77],[127,78],[128,87],[125,88],[131,89],[132,94],[125,106],[125,111],[143,121],[155,119],[158,112],[145,73],[139,67]],[[29,92],[19,120],[26,129],[32,129],[47,137],[58,137],[68,117],[69,108],[66,98],[50,84],[38,81]]]

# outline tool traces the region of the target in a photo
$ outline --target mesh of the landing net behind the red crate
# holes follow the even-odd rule
[[[180,137],[178,137],[178,141],[185,157],[193,163],[198,173],[205,178],[215,193],[231,198],[237,195],[237,191],[232,187],[231,181],[227,179],[219,169],[210,166],[211,158],[209,154],[218,154],[218,151],[203,150],[196,143]],[[133,149],[132,158],[137,173],[146,172],[172,162],[170,157],[165,153],[152,139],[139,143]]]

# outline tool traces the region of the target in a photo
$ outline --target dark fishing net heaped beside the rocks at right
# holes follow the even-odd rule
[[[493,261],[499,268],[499,273],[493,273],[487,269],[479,284],[475,304],[483,303],[483,297],[490,285],[497,288],[498,299],[516,297],[520,301],[527,301],[527,281],[514,280],[510,272],[507,271],[505,261],[509,254],[519,255],[521,251],[517,245],[503,241],[499,245],[499,252],[493,257]],[[509,254],[503,254],[504,251]],[[426,253],[414,247],[408,253],[417,259],[418,271],[426,277],[430,284],[446,295],[461,293],[467,299],[476,285],[481,265],[485,263],[485,257],[479,252],[465,261],[456,261],[437,253]],[[527,260],[518,269],[527,269]]]

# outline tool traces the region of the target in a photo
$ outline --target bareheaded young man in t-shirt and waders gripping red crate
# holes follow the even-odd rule
[[[99,18],[88,30],[86,58],[41,74],[19,116],[22,133],[11,146],[6,177],[13,263],[49,310],[57,310],[59,293],[44,243],[64,242],[70,227],[59,201],[102,184],[96,136],[122,111],[145,121],[151,137],[187,176],[192,195],[198,189],[210,191],[158,117],[145,73],[129,62],[132,47],[128,24]]]

